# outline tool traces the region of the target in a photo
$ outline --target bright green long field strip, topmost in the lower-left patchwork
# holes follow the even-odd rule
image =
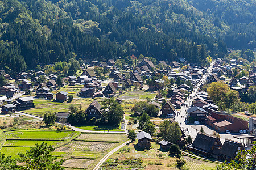
[[[77,132],[70,131],[9,131],[6,132],[5,139],[69,139]]]

